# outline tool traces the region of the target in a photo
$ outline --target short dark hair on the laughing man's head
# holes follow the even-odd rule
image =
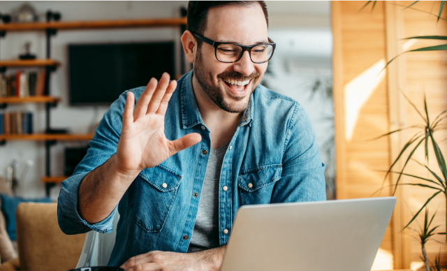
[[[207,14],[210,8],[226,5],[251,6],[254,4],[261,6],[268,26],[267,5],[264,0],[189,0],[188,3],[188,30],[203,35],[206,28]],[[198,41],[200,44],[200,41]]]

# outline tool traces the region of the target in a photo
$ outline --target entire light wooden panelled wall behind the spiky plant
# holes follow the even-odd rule
[[[332,0],[332,29],[334,35],[334,103],[335,145],[337,163],[337,198],[365,198],[383,185],[384,174],[397,156],[412,131],[390,138],[369,140],[393,129],[420,123],[420,117],[404,100],[401,91],[422,110],[423,91],[430,106],[430,117],[447,109],[447,52],[414,52],[405,54],[391,64],[386,73],[376,72],[369,78],[374,66],[388,61],[400,52],[416,47],[437,45],[433,41],[408,42],[402,38],[418,35],[447,36],[447,22],[436,22],[433,15],[403,9],[413,0],[377,1],[361,10],[365,1]],[[439,5],[439,3],[437,4]],[[433,1],[418,1],[414,8],[434,10]],[[447,17],[447,14],[443,15]],[[414,44],[413,44],[414,43]],[[360,105],[359,105],[360,104]],[[353,110],[355,108],[355,110]],[[356,117],[352,117],[355,115]],[[354,119],[354,121],[353,121]],[[447,131],[439,131],[439,139],[447,138]],[[441,148],[447,154],[447,141]],[[437,168],[433,154],[428,165]],[[416,154],[424,161],[421,150]],[[402,166],[402,163],[400,164]],[[408,173],[430,177],[428,173],[411,163]],[[391,176],[386,185],[395,182]],[[402,182],[416,182],[404,178]],[[390,195],[383,189],[380,196]],[[420,244],[406,237],[411,230],[400,233],[402,227],[416,213],[425,200],[432,195],[430,189],[401,187],[398,189],[398,204],[390,222],[381,251],[390,254],[379,259],[383,264],[394,264],[394,268],[420,268]],[[374,195],[376,196],[376,195]],[[434,224],[443,225],[445,231],[446,201],[439,196],[430,205],[430,212],[438,210]],[[421,217],[422,219],[423,217]],[[412,225],[417,228],[417,224]],[[444,236],[439,235],[443,241]],[[441,249],[441,265],[447,265],[447,247],[436,242],[427,244],[430,257]]]

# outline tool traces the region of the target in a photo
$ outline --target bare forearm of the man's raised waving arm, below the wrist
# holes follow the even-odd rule
[[[119,173],[116,165],[114,155],[87,174],[80,183],[78,212],[89,224],[96,224],[108,217],[138,175]]]

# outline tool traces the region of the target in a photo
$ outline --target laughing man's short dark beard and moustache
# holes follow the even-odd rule
[[[198,50],[199,51],[199,50]],[[202,87],[203,92],[205,92],[207,98],[210,98],[219,108],[225,110],[230,113],[241,113],[249,105],[249,99],[245,103],[237,103],[238,101],[244,100],[247,96],[251,96],[256,87],[258,87],[258,82],[261,81],[262,75],[257,71],[254,71],[249,76],[244,76],[237,71],[228,71],[219,73],[217,75],[217,82],[213,82],[212,73],[210,73],[205,65],[203,64],[202,54],[198,52],[195,64],[193,66],[194,75],[196,75],[196,79],[200,87]],[[222,78],[231,78],[234,80],[245,81],[250,80],[252,87],[251,90],[247,92],[245,96],[234,96],[230,92],[224,89],[224,86],[221,84],[225,84]],[[225,97],[225,94],[228,94],[229,98]],[[235,102],[234,102],[235,101]]]

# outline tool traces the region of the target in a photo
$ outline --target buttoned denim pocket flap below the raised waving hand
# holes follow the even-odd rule
[[[140,172],[139,176],[162,192],[176,189],[180,184],[180,180],[182,180],[182,175],[160,165],[154,168],[145,168]]]

